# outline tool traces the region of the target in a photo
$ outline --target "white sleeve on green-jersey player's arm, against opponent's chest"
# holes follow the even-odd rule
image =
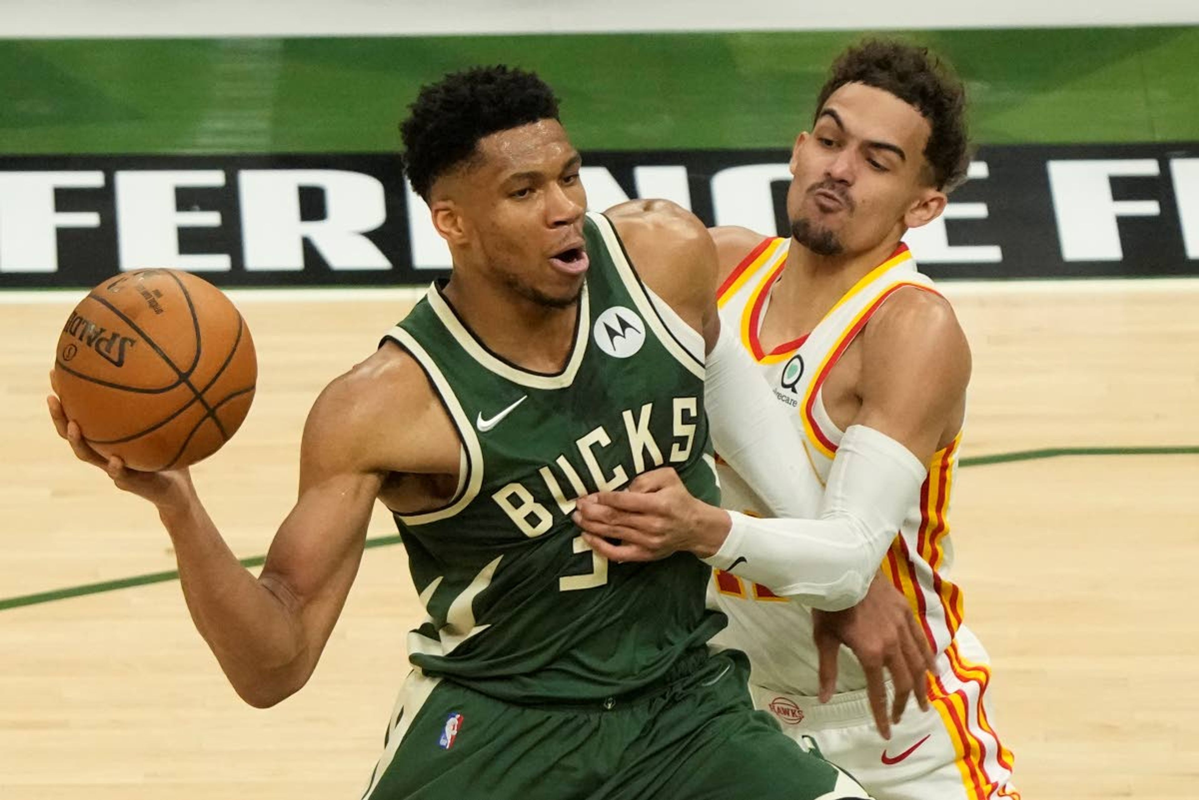
[[[772,515],[820,513],[823,492],[803,457],[803,439],[730,325],[721,325],[707,354],[704,408],[717,455]]]

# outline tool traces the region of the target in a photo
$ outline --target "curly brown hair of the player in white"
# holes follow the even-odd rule
[[[867,40],[833,61],[817,101],[817,116],[829,97],[848,83],[887,91],[920,112],[932,132],[924,158],[933,185],[946,192],[965,180],[970,166],[966,92],[953,68],[926,47],[894,40]]]

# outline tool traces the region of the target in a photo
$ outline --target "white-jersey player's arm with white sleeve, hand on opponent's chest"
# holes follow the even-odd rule
[[[662,493],[665,487],[652,489],[653,499],[601,493],[577,512],[584,530],[600,537],[589,540],[596,552],[643,560],[689,551],[814,608],[861,602],[918,497],[939,439],[954,427],[970,368],[965,338],[944,300],[912,289],[891,302],[894,308],[867,327],[862,408],[838,447],[815,518],[716,515],[685,492]],[[638,487],[634,481],[629,489]]]

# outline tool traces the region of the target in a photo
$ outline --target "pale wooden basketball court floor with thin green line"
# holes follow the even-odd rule
[[[1199,283],[946,288],[975,354],[953,575],[993,657],[992,722],[1023,796],[1191,800]],[[374,519],[378,546],[309,685],[270,710],[243,705],[177,582],[153,577],[175,565],[152,509],[50,427],[47,369],[78,296],[10,294],[0,307],[0,798],[357,798],[421,614],[391,521]],[[294,500],[317,392],[411,297],[234,297],[258,343],[258,397],[194,475],[252,558]],[[139,576],[152,577],[122,583]]]

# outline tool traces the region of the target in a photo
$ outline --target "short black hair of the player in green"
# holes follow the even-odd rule
[[[558,119],[554,91],[532,72],[505,65],[452,72],[421,88],[400,122],[403,163],[412,188],[429,199],[433,181],[499,131]]]

